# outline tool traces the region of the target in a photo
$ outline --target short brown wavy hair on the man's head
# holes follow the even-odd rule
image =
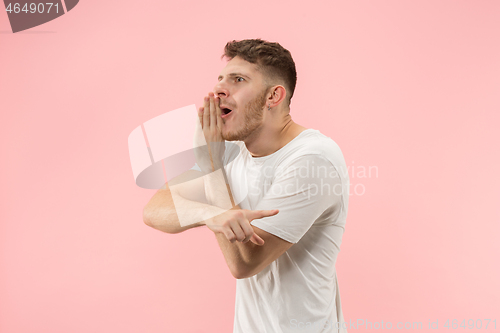
[[[221,58],[224,57],[229,59],[240,57],[249,63],[256,64],[264,76],[271,81],[266,80],[269,87],[274,79],[282,81],[287,92],[287,106],[290,106],[297,84],[297,71],[290,51],[278,43],[262,39],[244,39],[228,42]]]

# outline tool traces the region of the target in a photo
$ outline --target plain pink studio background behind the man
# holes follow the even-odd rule
[[[351,170],[378,170],[350,174],[364,193],[337,263],[345,319],[499,321],[499,13],[497,0],[86,0],[12,34],[2,10],[0,332],[232,331],[214,235],[144,225],[155,191],[134,184],[127,137],[200,105],[225,43],[258,37],[294,56],[293,119]]]

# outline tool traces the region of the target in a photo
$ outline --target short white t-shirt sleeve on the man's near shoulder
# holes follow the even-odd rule
[[[276,172],[255,210],[279,213],[251,224],[297,243],[325,210],[341,202],[342,183],[335,166],[322,155],[303,155]]]

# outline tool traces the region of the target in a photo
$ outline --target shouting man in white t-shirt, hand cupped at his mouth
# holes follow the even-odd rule
[[[242,40],[223,56],[198,110],[207,145],[153,196],[144,221],[168,233],[214,232],[237,279],[234,333],[345,332],[335,270],[349,199],[342,152],[293,122],[288,50]]]

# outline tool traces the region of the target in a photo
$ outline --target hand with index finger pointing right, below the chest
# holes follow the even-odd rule
[[[234,243],[251,241],[257,245],[264,245],[264,240],[254,233],[251,221],[278,214],[273,210],[231,209],[206,221],[206,226],[215,233],[221,233]]]

